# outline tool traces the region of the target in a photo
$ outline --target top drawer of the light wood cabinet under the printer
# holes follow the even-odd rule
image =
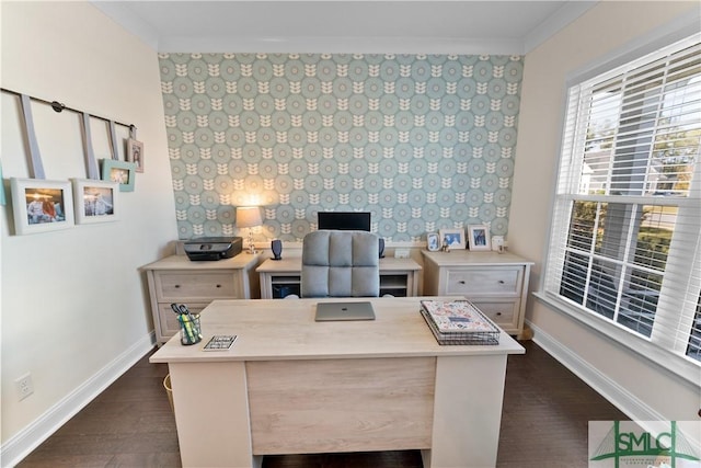
[[[233,273],[159,273],[156,275],[158,300],[237,298]]]

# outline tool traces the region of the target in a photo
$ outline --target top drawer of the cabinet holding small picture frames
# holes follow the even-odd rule
[[[521,269],[448,269],[446,271],[446,294],[518,295]]]

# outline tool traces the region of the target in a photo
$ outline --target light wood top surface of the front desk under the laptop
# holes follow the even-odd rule
[[[315,304],[338,299],[216,300],[202,315],[204,339],[170,340],[152,363],[522,354],[502,332],[498,345],[439,345],[418,312],[421,297],[371,298],[376,320],[315,322]],[[430,297],[436,299],[436,297]],[[344,299],[368,300],[368,298]],[[226,352],[205,352],[214,334],[238,335]]]

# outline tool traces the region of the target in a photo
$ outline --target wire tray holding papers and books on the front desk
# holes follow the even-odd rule
[[[469,300],[422,300],[421,315],[438,344],[499,344],[499,329]]]

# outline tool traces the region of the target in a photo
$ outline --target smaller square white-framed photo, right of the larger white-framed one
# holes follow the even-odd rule
[[[73,179],[76,224],[116,221],[119,218],[118,195],[117,182]]]

